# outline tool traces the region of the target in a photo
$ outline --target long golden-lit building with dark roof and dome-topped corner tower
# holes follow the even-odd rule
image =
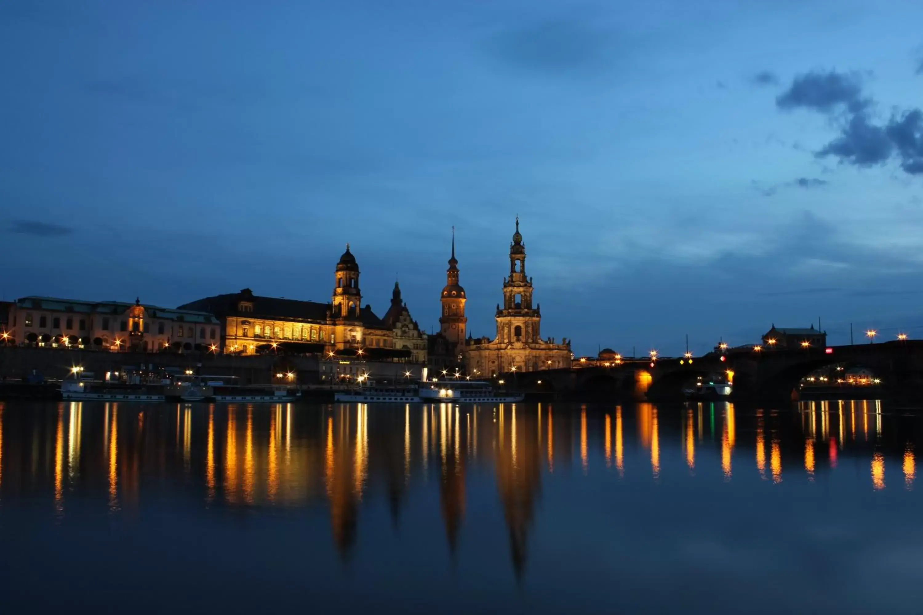
[[[270,349],[336,352],[392,359],[394,332],[361,307],[359,266],[349,244],[336,266],[330,303],[261,297],[250,289],[206,297],[180,306],[215,314],[222,324],[222,350],[257,354]]]

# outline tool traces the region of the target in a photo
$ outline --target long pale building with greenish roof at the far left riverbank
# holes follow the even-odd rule
[[[42,348],[159,352],[209,349],[221,326],[210,313],[126,302],[24,297],[9,306],[0,335]]]

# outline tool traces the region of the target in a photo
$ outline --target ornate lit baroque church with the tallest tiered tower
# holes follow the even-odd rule
[[[448,287],[447,287],[448,288]],[[532,278],[525,275],[525,244],[516,219],[509,243],[509,277],[503,280],[503,306],[497,304],[497,336],[468,338],[463,347],[470,373],[490,376],[570,367],[570,343],[543,339],[541,306],[533,307]]]

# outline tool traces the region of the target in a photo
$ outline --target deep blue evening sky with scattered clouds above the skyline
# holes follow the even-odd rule
[[[0,292],[245,287],[674,353],[818,316],[923,337],[923,3],[0,5]]]

